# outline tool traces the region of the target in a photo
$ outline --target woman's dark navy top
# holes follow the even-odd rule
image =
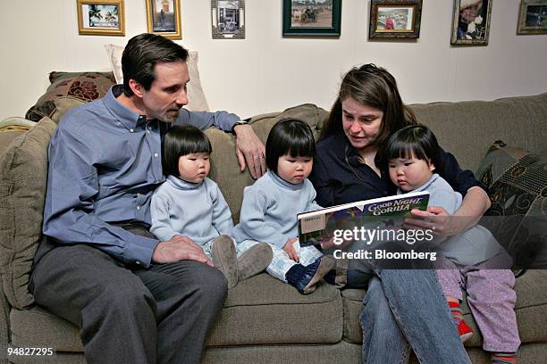
[[[472,186],[480,186],[470,170],[461,170],[450,153],[442,151],[442,168],[436,170],[450,186],[465,195]],[[316,201],[323,207],[353,203],[395,194],[397,188],[389,176],[379,177],[362,163],[357,150],[343,134],[324,138],[317,144],[314,168],[309,176],[316,187]]]

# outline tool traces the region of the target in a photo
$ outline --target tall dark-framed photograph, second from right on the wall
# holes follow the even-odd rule
[[[488,45],[492,0],[454,0],[452,45]]]

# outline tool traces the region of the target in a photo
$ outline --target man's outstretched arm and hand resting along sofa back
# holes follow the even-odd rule
[[[236,154],[241,171],[248,166],[253,178],[259,178],[266,172],[265,146],[248,124],[238,124],[240,117],[229,112],[189,112],[181,109],[176,124],[190,124],[201,130],[213,126],[236,136]]]

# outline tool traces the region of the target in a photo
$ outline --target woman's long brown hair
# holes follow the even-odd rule
[[[369,63],[349,70],[342,79],[338,98],[332,105],[319,140],[342,131],[341,102],[348,97],[383,112],[382,125],[374,140],[376,146],[383,145],[400,128],[417,123],[414,112],[402,103],[397,82],[391,73]]]

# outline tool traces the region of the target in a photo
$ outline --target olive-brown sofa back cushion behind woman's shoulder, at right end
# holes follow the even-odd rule
[[[476,170],[496,140],[533,153],[547,153],[547,93],[410,107],[418,122],[433,130],[442,148],[453,153],[464,169]]]

